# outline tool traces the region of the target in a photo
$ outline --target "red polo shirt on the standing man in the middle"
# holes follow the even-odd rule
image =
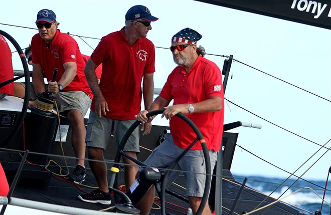
[[[140,112],[141,79],[155,72],[155,49],[151,41],[139,38],[131,45],[124,28],[103,37],[91,55],[94,64],[102,63],[100,89],[109,112],[106,117],[118,120],[135,119]],[[95,98],[91,110],[95,111]]]

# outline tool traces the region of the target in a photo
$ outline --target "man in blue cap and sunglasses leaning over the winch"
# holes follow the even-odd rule
[[[85,74],[85,62],[77,42],[68,34],[61,33],[53,11],[38,12],[36,25],[39,33],[31,41],[33,55],[32,83],[36,94],[45,91],[44,75],[48,80],[48,91],[56,97],[59,112],[66,115],[72,128],[72,145],[77,165],[68,179],[82,183],[85,179],[84,116],[91,105],[92,92]],[[54,81],[53,71],[58,69]]]

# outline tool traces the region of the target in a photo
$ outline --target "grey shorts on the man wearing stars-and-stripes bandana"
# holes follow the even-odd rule
[[[184,151],[183,148],[178,147],[174,143],[171,134],[165,134],[164,137],[165,140],[157,146],[145,160],[144,163],[146,165],[157,167],[169,163],[170,161],[175,160],[175,158]],[[209,150],[208,152],[211,169],[214,169],[218,152],[214,150]],[[202,150],[189,150],[174,169],[186,171],[184,174],[186,178],[186,194],[188,196],[203,196],[206,180],[206,166]],[[180,171],[173,171],[167,181],[167,186],[169,186],[180,173]]]

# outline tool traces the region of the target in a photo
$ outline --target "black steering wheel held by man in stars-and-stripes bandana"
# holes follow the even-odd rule
[[[154,115],[157,115],[157,114],[161,114],[163,113],[164,109],[163,110],[156,110],[156,111],[151,111],[149,113],[147,113],[147,117],[150,117],[150,116],[154,116]],[[208,149],[207,149],[207,145],[206,145],[206,142],[200,132],[200,130],[198,129],[198,127],[187,117],[185,116],[184,114],[182,113],[178,113],[176,114],[177,117],[181,118],[182,120],[184,120],[192,129],[193,131],[197,134],[197,138],[195,140],[193,140],[193,142],[173,161],[167,163],[167,164],[164,164],[164,165],[161,165],[161,166],[158,166],[156,168],[168,168],[168,169],[173,169],[176,164],[180,161],[180,159],[190,150],[190,148],[192,148],[192,146],[196,143],[196,142],[200,142],[201,143],[201,146],[202,146],[202,150],[203,150],[203,153],[204,153],[204,158],[206,160],[206,181],[205,181],[205,189],[204,189],[204,194],[203,194],[203,197],[202,197],[202,201],[201,201],[201,204],[198,208],[198,211],[197,211],[197,215],[201,215],[203,209],[204,209],[204,205],[206,204],[207,202],[207,199],[208,199],[208,194],[209,194],[209,190],[210,190],[210,182],[211,182],[211,166],[210,166],[210,158],[209,158],[209,153],[208,153]],[[119,167],[119,161],[120,161],[120,157],[121,155],[122,156],[125,156],[127,157],[128,159],[132,160],[133,162],[135,162],[136,164],[140,165],[140,166],[144,166],[146,167],[147,165],[144,164],[143,162],[139,161],[139,160],[136,160],[134,159],[133,157],[127,155],[126,153],[123,152],[123,148],[124,148],[124,145],[126,143],[126,141],[128,140],[128,138],[130,137],[131,133],[134,131],[134,129],[136,127],[138,127],[138,125],[140,124],[141,122],[140,121],[135,121],[130,127],[129,129],[126,131],[126,133],[124,134],[119,146],[118,146],[118,149],[117,149],[117,152],[116,152],[116,156],[115,156],[115,160],[114,160],[114,166],[115,168],[118,168]],[[164,177],[163,177],[163,182],[161,183],[161,192],[159,193],[159,197],[160,197],[160,202],[161,202],[161,214],[162,215],[165,215],[165,202],[164,202],[164,194],[165,194],[165,189],[166,189],[166,182],[170,176],[170,173],[171,171],[167,171],[165,172],[164,174]],[[114,175],[116,174],[115,172],[111,172],[111,180],[110,180],[110,187],[113,186],[113,182],[114,182]]]

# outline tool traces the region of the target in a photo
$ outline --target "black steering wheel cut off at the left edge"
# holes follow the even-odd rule
[[[19,53],[21,61],[22,61],[22,65],[23,65],[23,69],[24,69],[24,77],[25,77],[25,94],[24,94],[24,102],[23,102],[21,114],[17,117],[14,128],[10,132],[8,137],[5,140],[0,141],[0,147],[6,147],[10,144],[11,137],[16,136],[16,134],[19,132],[19,130],[23,124],[23,120],[26,116],[27,110],[28,110],[29,99],[30,99],[30,72],[29,72],[27,61],[25,60],[25,55],[24,55],[20,45],[16,42],[16,40],[12,36],[7,34],[6,32],[0,30],[0,34],[3,35],[4,37],[6,37],[14,45],[16,51]]]

